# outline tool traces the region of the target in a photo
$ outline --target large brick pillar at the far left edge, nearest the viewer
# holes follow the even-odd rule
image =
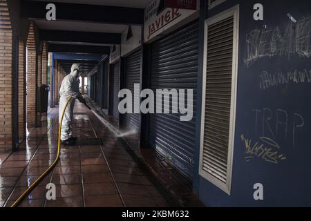
[[[12,148],[12,28],[8,4],[0,1],[0,151]]]

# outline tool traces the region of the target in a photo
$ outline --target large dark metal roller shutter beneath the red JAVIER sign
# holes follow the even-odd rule
[[[153,43],[151,89],[154,92],[164,88],[193,89],[194,117],[189,122],[181,122],[180,114],[151,114],[149,144],[171,159],[189,177],[193,176],[194,171],[197,77],[198,22]]]

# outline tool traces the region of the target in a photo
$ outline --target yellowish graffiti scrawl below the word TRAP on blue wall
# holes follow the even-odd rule
[[[272,164],[278,164],[282,160],[286,160],[285,155],[280,153],[281,147],[274,140],[268,137],[260,137],[259,142],[252,142],[244,135],[241,135],[241,140],[245,144],[245,157],[244,159],[249,162],[253,158],[264,160]]]

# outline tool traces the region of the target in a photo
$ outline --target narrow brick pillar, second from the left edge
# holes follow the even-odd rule
[[[19,140],[26,137],[26,46],[19,39]]]

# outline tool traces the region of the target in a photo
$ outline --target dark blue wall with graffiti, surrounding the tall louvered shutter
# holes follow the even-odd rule
[[[227,0],[209,10],[207,17],[237,3],[240,30],[231,195],[199,175],[194,177],[194,189],[207,206],[311,206],[311,1]],[[263,4],[264,21],[254,21],[255,3]],[[295,24],[288,13],[297,20]],[[262,28],[264,25],[266,28]],[[276,47],[270,50],[266,45],[262,57],[248,56],[247,52],[254,52],[254,48],[247,50],[247,39],[255,42],[255,34]],[[292,44],[298,34],[299,44]],[[288,78],[294,73],[303,77]],[[276,84],[266,76],[283,77],[283,81]],[[251,141],[251,146],[256,142],[264,144],[281,157],[269,160],[248,155],[241,135]],[[273,140],[274,145],[262,137],[269,138],[270,144]],[[198,153],[197,142],[197,174]],[[277,163],[270,162],[274,160]],[[256,201],[253,185],[258,182],[263,184],[264,200]]]

